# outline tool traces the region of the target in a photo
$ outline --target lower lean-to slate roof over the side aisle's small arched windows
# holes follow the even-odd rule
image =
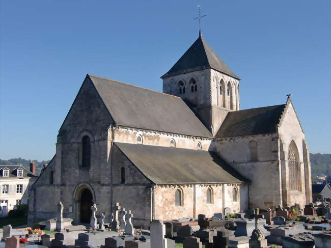
[[[115,145],[155,184],[247,181],[214,152],[118,142]]]

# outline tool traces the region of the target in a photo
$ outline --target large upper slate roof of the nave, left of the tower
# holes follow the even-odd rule
[[[118,125],[212,137],[183,99],[88,74]]]

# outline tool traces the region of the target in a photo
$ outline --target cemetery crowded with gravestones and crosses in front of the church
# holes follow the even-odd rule
[[[328,199],[329,200],[329,199]],[[111,221],[92,205],[90,224],[73,225],[63,217],[63,204],[52,219],[35,223],[32,228],[4,226],[0,247],[49,248],[326,248],[331,247],[331,204],[322,199],[304,208],[279,205],[275,209],[249,209],[244,213],[212,216],[199,214],[197,219],[178,218],[151,221],[148,229],[134,227],[134,210],[116,203]],[[45,234],[47,231],[54,231]],[[181,246],[182,245],[182,246]]]

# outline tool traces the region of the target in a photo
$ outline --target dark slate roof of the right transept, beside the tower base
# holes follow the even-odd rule
[[[274,133],[286,104],[229,112],[215,138]]]

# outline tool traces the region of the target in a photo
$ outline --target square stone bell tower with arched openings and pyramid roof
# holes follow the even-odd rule
[[[163,93],[181,97],[214,135],[230,111],[239,110],[240,78],[198,39],[163,76]]]

